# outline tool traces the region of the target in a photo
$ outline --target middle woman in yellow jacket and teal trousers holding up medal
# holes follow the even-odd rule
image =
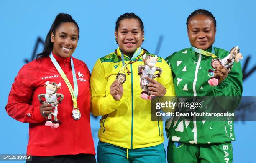
[[[102,116],[98,131],[98,163],[165,163],[163,123],[151,121],[151,101],[140,96],[138,66],[144,64],[143,54],[149,54],[141,49],[143,29],[143,22],[134,13],[121,15],[115,28],[118,49],[98,59],[92,70],[91,111],[95,116]],[[127,67],[123,67],[126,63]],[[155,66],[160,67],[162,73],[155,80],[148,79],[151,82],[148,93],[174,96],[168,64],[158,57]],[[123,84],[116,80],[121,69],[126,75]]]

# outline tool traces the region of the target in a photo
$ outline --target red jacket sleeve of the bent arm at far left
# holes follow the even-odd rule
[[[5,109],[8,115],[17,121],[26,123],[44,121],[39,106],[31,105],[31,97],[33,90],[36,88],[39,70],[40,66],[33,61],[24,65],[15,77]]]

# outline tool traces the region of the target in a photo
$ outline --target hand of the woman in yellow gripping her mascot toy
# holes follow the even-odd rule
[[[149,77],[146,77],[146,79],[150,81],[150,83],[147,84],[149,94],[155,96],[164,96],[166,94],[166,88],[161,83]]]

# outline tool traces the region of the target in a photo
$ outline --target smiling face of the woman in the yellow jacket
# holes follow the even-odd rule
[[[115,37],[123,54],[131,55],[141,47],[144,31],[141,30],[137,19],[123,19],[115,31]]]

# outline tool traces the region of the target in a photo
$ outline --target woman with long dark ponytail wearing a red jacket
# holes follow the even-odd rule
[[[43,52],[20,69],[12,85],[6,111],[29,123],[31,162],[96,162],[90,72],[84,62],[71,56],[78,38],[75,20],[69,14],[57,15]]]

